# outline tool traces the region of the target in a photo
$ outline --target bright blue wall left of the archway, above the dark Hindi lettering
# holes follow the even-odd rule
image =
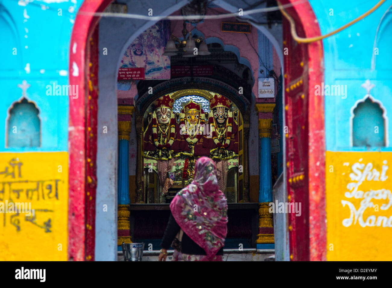
[[[69,43],[82,2],[27,2],[0,0],[0,152],[67,151],[68,95],[48,96],[46,86],[68,84]],[[6,148],[5,124],[10,107],[22,98],[23,80],[31,85],[26,98],[40,111],[41,146]]]

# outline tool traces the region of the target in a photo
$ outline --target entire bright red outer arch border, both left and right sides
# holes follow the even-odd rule
[[[99,18],[91,12],[102,12],[112,0],[84,0],[74,23],[69,57],[69,84],[78,85],[79,98],[69,99],[69,208],[68,208],[68,259],[85,260],[85,191],[86,176],[86,99],[88,75],[87,43]],[[296,0],[282,0],[282,4],[295,3]],[[320,35],[317,18],[309,2],[302,2],[294,8],[307,37]],[[290,11],[289,11],[290,13]],[[323,81],[322,42],[307,45],[309,60],[309,92]],[[309,93],[311,95],[312,93]],[[324,99],[309,97],[309,237],[310,259],[326,260],[326,217],[325,217],[325,129]],[[90,239],[94,243],[94,239]]]

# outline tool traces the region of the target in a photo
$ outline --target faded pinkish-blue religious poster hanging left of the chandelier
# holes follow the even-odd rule
[[[152,25],[129,45],[121,60],[120,69],[144,68],[144,80],[170,79],[170,58],[162,55],[169,38],[170,21],[161,20]],[[140,73],[132,74],[131,78],[140,79]]]

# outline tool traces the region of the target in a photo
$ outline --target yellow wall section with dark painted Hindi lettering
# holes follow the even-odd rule
[[[67,222],[68,153],[0,153],[0,261],[66,261]]]

